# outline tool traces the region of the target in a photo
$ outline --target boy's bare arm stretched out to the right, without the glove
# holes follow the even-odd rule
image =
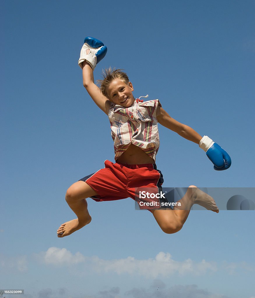
[[[202,139],[202,136],[194,131],[193,128],[176,121],[160,106],[157,108],[156,117],[161,125],[169,128],[171,131],[175,131],[177,134],[189,141],[199,144]]]

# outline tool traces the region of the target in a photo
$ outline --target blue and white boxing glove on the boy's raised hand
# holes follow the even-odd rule
[[[96,64],[105,57],[106,52],[107,47],[102,41],[93,37],[85,37],[78,65],[82,68],[82,63],[86,60],[94,70]]]

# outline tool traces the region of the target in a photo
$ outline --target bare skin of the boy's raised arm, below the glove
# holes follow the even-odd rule
[[[94,100],[96,105],[108,115],[110,108],[110,100],[108,100],[100,91],[98,86],[94,83],[94,75],[91,66],[87,61],[83,62],[82,66],[83,86],[86,88],[90,97]]]

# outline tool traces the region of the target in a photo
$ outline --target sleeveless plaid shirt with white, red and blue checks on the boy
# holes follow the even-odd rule
[[[158,99],[143,103],[136,99],[129,108],[111,104],[109,120],[114,141],[115,160],[127,150],[130,144],[140,147],[156,161],[159,150],[159,131],[156,118]]]

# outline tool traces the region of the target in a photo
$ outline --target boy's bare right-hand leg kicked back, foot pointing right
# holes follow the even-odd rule
[[[176,233],[182,228],[193,204],[219,212],[214,199],[194,185],[188,188],[183,198],[177,203],[181,203],[181,206],[174,207],[174,210],[152,210],[154,218],[165,233]]]

